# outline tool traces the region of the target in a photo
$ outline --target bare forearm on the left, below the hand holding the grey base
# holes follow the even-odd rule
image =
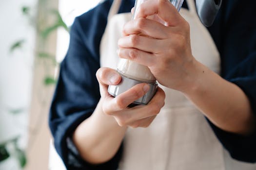
[[[112,116],[102,112],[99,102],[92,116],[76,129],[73,141],[85,161],[99,164],[117,153],[125,132],[126,127],[120,127]]]

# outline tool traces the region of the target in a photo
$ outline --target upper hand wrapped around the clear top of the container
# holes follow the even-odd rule
[[[166,24],[146,18],[152,15]],[[189,24],[169,0],[142,3],[136,19],[124,25],[123,34],[118,41],[120,58],[148,66],[161,85],[180,91],[191,85],[196,60]]]

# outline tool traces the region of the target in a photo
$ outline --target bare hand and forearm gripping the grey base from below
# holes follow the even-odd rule
[[[111,159],[121,144],[127,127],[148,127],[164,106],[165,93],[158,88],[147,105],[127,107],[142,97],[149,85],[135,85],[113,98],[108,85],[118,85],[121,81],[116,70],[99,68],[97,79],[101,98],[91,117],[85,119],[75,130],[73,141],[80,155],[91,164],[99,164]]]

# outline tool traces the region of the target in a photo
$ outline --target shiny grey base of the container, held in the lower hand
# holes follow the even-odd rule
[[[140,81],[137,81],[137,80],[134,80],[134,79],[130,79],[130,78],[125,77],[123,75],[121,75],[121,77],[122,77],[122,80],[118,85],[109,85],[108,86],[108,93],[111,94],[114,97],[116,97],[119,94],[127,91],[128,89],[130,89],[134,85],[138,85],[140,83],[146,83],[146,82],[140,82]],[[157,83],[153,83],[153,84],[147,83],[147,84],[150,86],[149,91],[143,97],[139,98],[138,100],[136,100],[133,103],[146,105],[153,98],[153,96],[157,92],[158,84]]]

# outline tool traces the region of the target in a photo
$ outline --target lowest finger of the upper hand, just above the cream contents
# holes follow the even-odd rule
[[[119,48],[118,56],[148,67],[153,66],[157,62],[157,57],[153,53],[138,49]]]

